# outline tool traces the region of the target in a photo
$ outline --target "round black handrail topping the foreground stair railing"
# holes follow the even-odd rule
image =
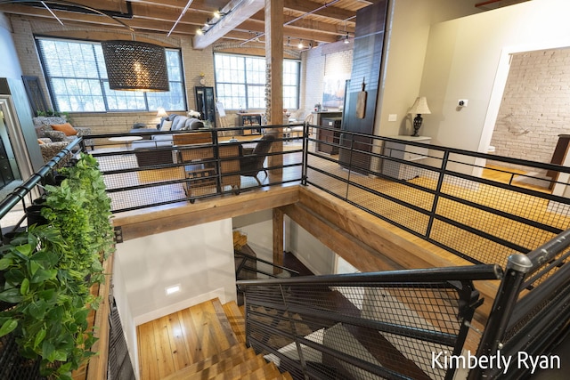
[[[411,269],[399,271],[381,271],[366,273],[328,274],[321,276],[300,276],[289,279],[241,279],[238,287],[260,285],[316,285],[349,283],[365,284],[379,282],[435,282],[501,279],[502,270],[497,264],[466,265],[450,268]],[[362,286],[362,285],[361,285]]]

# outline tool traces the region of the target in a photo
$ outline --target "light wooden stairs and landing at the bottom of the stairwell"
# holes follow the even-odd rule
[[[199,303],[137,327],[141,380],[291,379],[245,344],[235,302]]]

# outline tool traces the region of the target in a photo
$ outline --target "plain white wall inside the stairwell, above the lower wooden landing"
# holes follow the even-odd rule
[[[203,295],[215,293],[222,303],[235,299],[229,219],[127,240],[118,244],[115,260],[135,325],[201,302]],[[176,284],[181,291],[165,295],[165,287]]]

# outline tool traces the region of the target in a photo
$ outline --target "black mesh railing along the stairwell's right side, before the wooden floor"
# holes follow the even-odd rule
[[[547,176],[570,168],[309,127],[307,184],[472,263],[504,265],[570,228],[570,201],[554,195],[566,183]]]

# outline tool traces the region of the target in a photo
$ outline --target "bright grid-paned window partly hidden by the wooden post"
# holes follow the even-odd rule
[[[224,109],[265,109],[265,58],[214,54],[216,97]],[[300,62],[283,61],[283,108],[299,108]]]

